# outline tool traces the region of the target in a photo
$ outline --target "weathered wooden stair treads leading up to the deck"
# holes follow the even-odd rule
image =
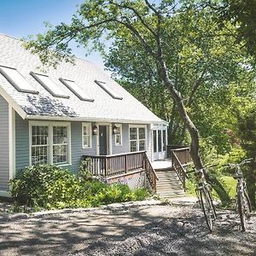
[[[156,182],[156,192],[161,198],[172,198],[185,195],[183,184],[172,167],[155,170],[159,180]]]

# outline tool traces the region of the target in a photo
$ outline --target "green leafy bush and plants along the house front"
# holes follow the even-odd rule
[[[120,183],[102,183],[80,169],[78,175],[58,166],[29,166],[10,181],[11,195],[35,209],[97,207],[102,204],[143,200],[146,189],[131,190]]]

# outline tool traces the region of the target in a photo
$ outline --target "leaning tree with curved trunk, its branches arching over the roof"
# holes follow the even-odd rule
[[[191,1],[188,1],[191,3]],[[190,153],[195,167],[203,167],[199,152],[199,132],[189,117],[185,107],[186,98],[183,97],[183,81],[175,84],[169,72],[177,59],[169,60],[170,52],[175,50],[175,45],[169,45],[169,39],[173,35],[173,22],[177,12],[197,14],[197,9],[188,11],[183,9],[186,1],[176,4],[176,1],[163,0],[159,5],[150,3],[148,0],[93,0],[84,1],[76,15],[73,15],[72,23],[61,23],[59,26],[50,27],[45,34],[39,34],[36,40],[31,40],[27,48],[41,58],[43,63],[56,65],[58,61],[72,61],[69,42],[75,40],[78,44],[90,49],[103,51],[104,39],[115,40],[125,38],[125,46],[137,44],[138,51],[147,55],[150,64],[153,65],[158,79],[172,96],[179,118],[183,121],[191,137]],[[208,10],[204,10],[207,12]],[[204,15],[201,12],[200,15]],[[184,16],[183,21],[189,23],[189,16]],[[196,20],[195,20],[196,21]],[[196,26],[196,22],[193,23]],[[191,33],[189,40],[193,40]],[[174,47],[174,49],[173,49]],[[192,54],[193,54],[193,49]],[[168,64],[170,63],[170,64]],[[198,67],[201,73],[204,72]],[[200,77],[195,78],[200,79]],[[193,89],[193,88],[192,88]],[[191,90],[193,93],[193,90]],[[184,94],[185,95],[185,94]],[[206,173],[207,174],[207,173]],[[207,175],[213,185],[218,184],[214,178]],[[220,184],[218,184],[220,187]]]

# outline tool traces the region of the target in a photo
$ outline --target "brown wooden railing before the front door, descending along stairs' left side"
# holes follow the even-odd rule
[[[142,169],[146,172],[152,188],[156,189],[158,178],[148,160],[146,151],[128,154],[83,155],[83,160],[86,160],[85,168],[96,177],[113,177]]]

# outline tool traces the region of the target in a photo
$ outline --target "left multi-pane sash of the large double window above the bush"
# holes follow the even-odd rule
[[[32,126],[32,165],[49,163],[49,127]]]

